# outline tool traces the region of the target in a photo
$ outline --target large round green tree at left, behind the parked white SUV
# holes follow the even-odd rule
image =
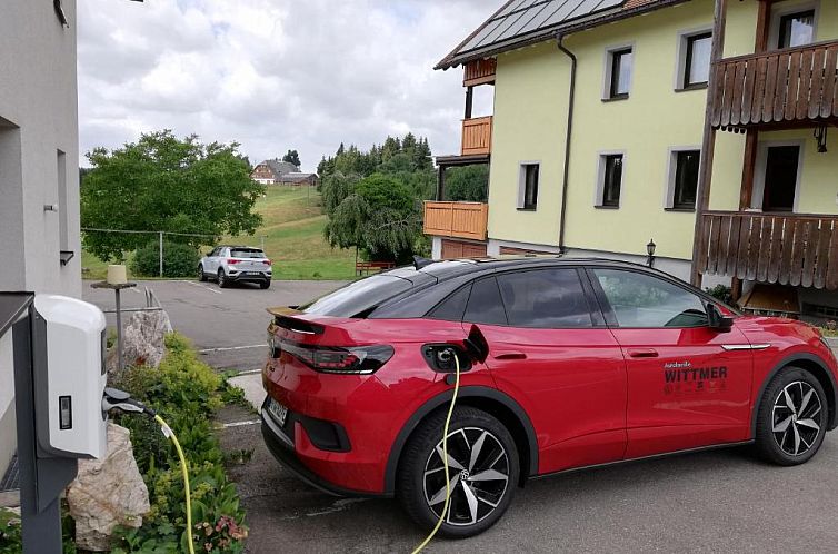
[[[253,205],[265,188],[250,178],[238,146],[203,145],[197,136],[181,140],[163,130],[112,151],[89,152],[92,169],[81,189],[82,227],[149,233],[89,231],[84,246],[102,260],[122,260],[156,231],[204,235],[167,236],[196,247],[223,235],[256,233],[261,216]]]

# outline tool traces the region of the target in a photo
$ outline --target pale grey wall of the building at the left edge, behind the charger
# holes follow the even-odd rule
[[[0,290],[81,296],[76,0],[0,6]],[[56,206],[57,211],[44,206]],[[61,266],[60,251],[74,253]],[[0,475],[14,451],[11,340],[0,340]]]

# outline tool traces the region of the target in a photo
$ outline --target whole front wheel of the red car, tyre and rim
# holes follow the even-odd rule
[[[811,459],[824,443],[827,404],[824,387],[806,369],[787,367],[768,385],[757,415],[757,448],[779,465]]]

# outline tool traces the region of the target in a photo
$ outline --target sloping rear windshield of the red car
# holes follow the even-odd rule
[[[365,317],[377,306],[413,286],[407,279],[373,275],[300,308],[305,314],[329,317]]]

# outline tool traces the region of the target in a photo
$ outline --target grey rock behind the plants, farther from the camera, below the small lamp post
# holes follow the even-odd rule
[[[146,365],[159,367],[166,354],[166,335],[171,333],[169,315],[160,310],[137,311],[123,323],[122,343],[126,367]],[[119,365],[116,345],[108,352],[108,369],[114,370]]]

